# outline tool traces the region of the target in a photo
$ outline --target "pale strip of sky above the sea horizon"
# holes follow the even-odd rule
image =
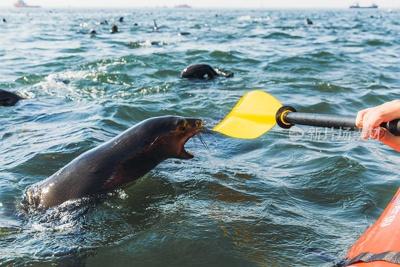
[[[0,0],[1,7],[12,7],[17,0]],[[348,8],[355,2],[360,6],[370,6],[372,3],[379,8],[400,8],[399,0],[24,0],[28,5],[45,7],[173,7],[187,4],[193,8]]]

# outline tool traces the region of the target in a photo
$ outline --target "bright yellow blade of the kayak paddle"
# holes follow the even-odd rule
[[[281,106],[265,92],[248,92],[212,130],[235,138],[257,138],[275,125],[275,114]]]

